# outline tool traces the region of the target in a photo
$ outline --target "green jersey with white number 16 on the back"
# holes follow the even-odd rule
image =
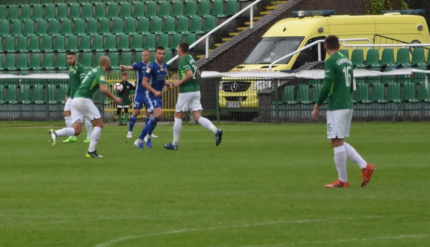
[[[324,84],[316,104],[323,104],[328,96],[329,111],[353,109],[352,89],[354,77],[351,60],[342,53],[335,52],[326,60],[324,65]]]

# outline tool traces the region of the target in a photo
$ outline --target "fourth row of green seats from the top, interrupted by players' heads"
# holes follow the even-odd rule
[[[98,66],[100,56],[109,56],[112,69],[119,69],[120,64],[131,65],[142,60],[141,52],[82,52],[77,53],[78,61],[89,70]],[[58,70],[66,73],[68,70],[67,53],[9,53],[0,55],[0,71],[40,71]],[[171,50],[166,51],[165,61],[173,57]],[[154,60],[154,52],[151,52],[151,61]]]

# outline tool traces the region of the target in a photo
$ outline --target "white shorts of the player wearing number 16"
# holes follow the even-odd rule
[[[327,111],[327,138],[343,139],[349,136],[353,109]]]

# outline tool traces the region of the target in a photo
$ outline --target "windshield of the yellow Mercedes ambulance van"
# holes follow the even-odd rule
[[[299,47],[304,37],[265,37],[246,56],[243,64],[272,63]],[[287,64],[291,57],[278,63]]]

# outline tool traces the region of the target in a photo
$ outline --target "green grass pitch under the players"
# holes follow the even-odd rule
[[[220,123],[223,142],[172,124],[153,148],[105,126],[97,151],[48,143],[63,123],[0,122],[0,246],[428,246],[428,122],[353,123],[347,138],[376,166],[360,187],[337,179],[324,123]]]

